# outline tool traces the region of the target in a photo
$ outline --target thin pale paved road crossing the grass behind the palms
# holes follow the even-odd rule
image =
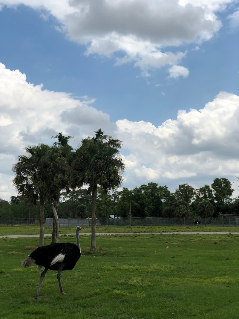
[[[239,232],[230,233],[230,232],[175,232],[175,233],[96,233],[96,235],[135,235],[135,234],[239,234]],[[51,236],[52,234],[44,234],[44,237]],[[63,236],[65,234],[59,234],[59,236]],[[73,234],[66,234],[66,235],[75,235]],[[91,235],[91,233],[79,233],[79,235]],[[0,238],[23,238],[23,237],[39,237],[39,235],[1,235]]]

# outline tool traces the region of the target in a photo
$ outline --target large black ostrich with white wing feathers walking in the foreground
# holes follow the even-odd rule
[[[81,229],[83,228],[80,226],[76,227],[77,246],[76,244],[67,242],[38,247],[24,260],[23,267],[29,267],[33,263],[37,264],[37,271],[40,271],[42,266],[45,267],[40,276],[35,299],[39,298],[41,283],[48,269],[58,270],[56,277],[59,282],[60,293],[61,295],[66,294],[63,292],[61,274],[62,270],[72,270],[81,256],[81,247],[79,243],[79,231]]]

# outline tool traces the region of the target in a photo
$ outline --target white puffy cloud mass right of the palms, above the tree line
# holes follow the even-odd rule
[[[238,176],[239,97],[221,92],[200,110],[179,110],[176,120],[155,127],[148,122],[116,122],[124,147],[128,174],[138,181],[170,185],[189,182],[196,187],[215,177]],[[150,168],[150,170],[147,170]],[[141,173],[140,173],[141,172]],[[140,182],[138,182],[138,185]]]

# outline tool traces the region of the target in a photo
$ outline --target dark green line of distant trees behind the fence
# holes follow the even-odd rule
[[[143,184],[132,190],[107,193],[97,187],[96,217],[109,215],[126,218],[131,206],[131,217],[184,217],[221,216],[238,213],[239,199],[232,198],[234,189],[227,178],[215,178],[211,185],[194,189],[188,184],[180,184],[174,193],[167,186],[155,182]],[[39,218],[40,202],[29,203],[23,196],[11,196],[11,201],[0,199],[0,218]],[[58,203],[60,218],[91,217],[91,194],[88,189],[71,189],[61,192]],[[44,204],[44,217],[53,218],[49,203]]]

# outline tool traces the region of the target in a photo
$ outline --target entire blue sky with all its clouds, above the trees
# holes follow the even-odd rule
[[[63,132],[76,147],[99,128],[123,141],[125,187],[235,181],[238,1],[0,0],[0,8],[1,198],[15,195],[11,167],[26,145]]]

